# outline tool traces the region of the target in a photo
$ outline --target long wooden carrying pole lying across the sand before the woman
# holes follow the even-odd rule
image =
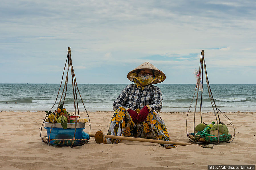
[[[94,137],[94,134],[90,134],[90,137]],[[114,135],[105,135],[105,138],[119,139],[119,140],[130,140],[130,141],[138,141],[138,142],[151,142],[151,143],[171,144],[171,145],[180,145],[180,146],[193,145],[191,143],[185,143],[185,142],[171,142],[171,141],[165,141],[165,140],[155,140],[155,139],[146,139],[146,138],[134,138],[134,137],[114,136]],[[203,148],[213,148],[213,145],[212,146],[199,145],[199,146],[202,146]]]

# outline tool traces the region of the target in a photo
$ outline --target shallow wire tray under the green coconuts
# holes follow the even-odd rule
[[[203,136],[203,135],[195,135],[194,133],[188,134],[189,138],[198,143],[216,143],[218,142],[218,136]],[[232,138],[231,136],[221,137],[219,142],[228,142]]]

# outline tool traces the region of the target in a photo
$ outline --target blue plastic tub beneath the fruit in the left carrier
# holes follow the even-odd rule
[[[76,128],[75,129],[63,129],[63,128],[52,128],[51,136],[50,135],[50,127],[44,127],[47,131],[48,139],[73,139],[75,133],[75,139],[81,139],[83,128]]]

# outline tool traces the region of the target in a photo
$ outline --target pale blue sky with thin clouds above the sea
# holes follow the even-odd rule
[[[254,0],[8,0],[0,14],[0,83],[60,83],[71,47],[77,83],[128,84],[148,61],[193,84],[204,50],[210,84],[256,84]]]

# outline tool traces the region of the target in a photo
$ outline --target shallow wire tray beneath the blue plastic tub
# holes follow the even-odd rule
[[[73,139],[50,139],[50,143],[47,136],[44,136],[41,139],[44,143],[52,146],[81,146],[89,141],[89,139],[75,139],[72,145]]]

